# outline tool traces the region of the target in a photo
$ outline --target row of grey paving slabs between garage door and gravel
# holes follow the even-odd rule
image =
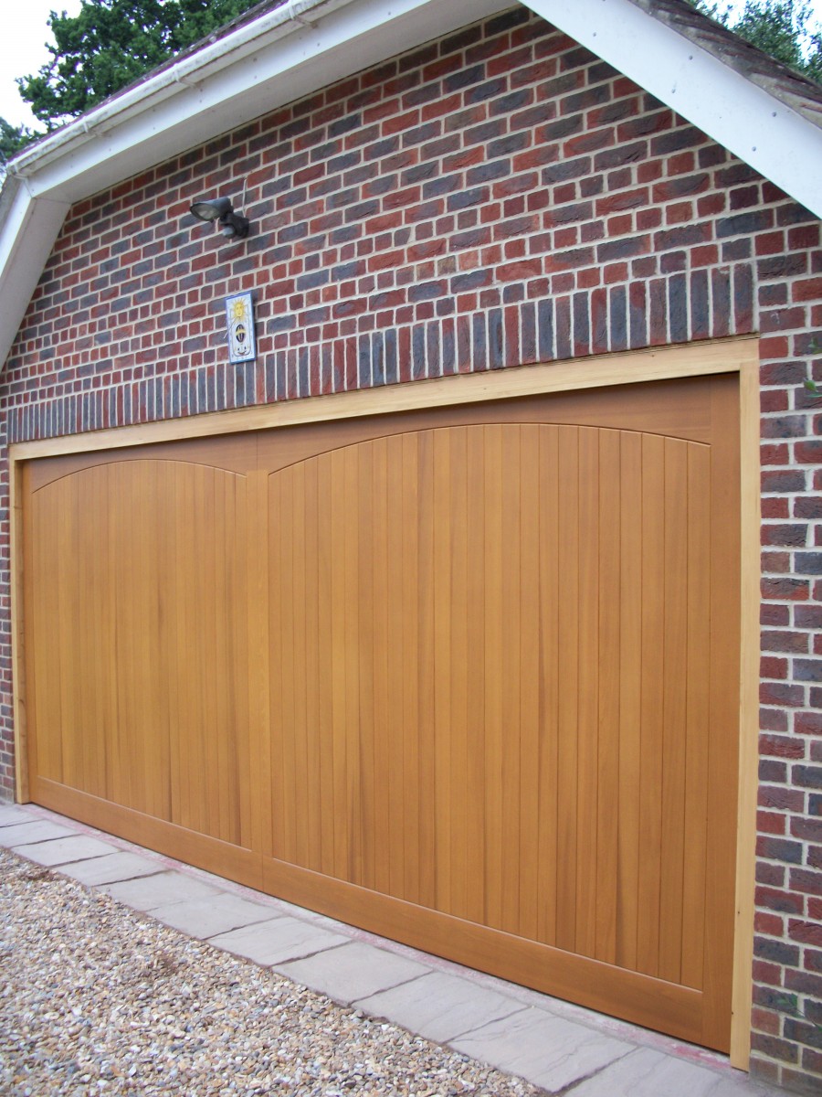
[[[713,1052],[459,968],[33,805],[0,846],[411,1032],[574,1097],[768,1097]]]

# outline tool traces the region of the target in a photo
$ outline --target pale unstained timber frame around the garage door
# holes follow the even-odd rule
[[[737,829],[737,906],[733,948],[731,1052],[747,1070],[751,1049],[754,870],[760,683],[760,353],[758,338],[711,340],[678,347],[603,354],[484,373],[355,389],[281,404],[213,411],[186,419],[116,427],[82,434],[18,442],[9,448],[12,668],[16,799],[28,801],[25,663],[22,614],[22,471],[26,461],[163,441],[271,430],[309,422],[390,415],[518,396],[584,392],[717,373],[740,378],[740,745]]]

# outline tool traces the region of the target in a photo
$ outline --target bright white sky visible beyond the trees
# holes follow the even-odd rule
[[[738,0],[733,7],[743,7],[743,0]],[[52,9],[76,15],[80,10],[80,0],[4,0],[3,8],[3,33],[0,34],[0,117],[15,126],[25,123],[36,127],[37,123],[28,104],[20,98],[14,77],[30,76],[48,60],[45,43],[52,39],[47,25]],[[812,8],[822,22],[822,0],[812,0]]]

